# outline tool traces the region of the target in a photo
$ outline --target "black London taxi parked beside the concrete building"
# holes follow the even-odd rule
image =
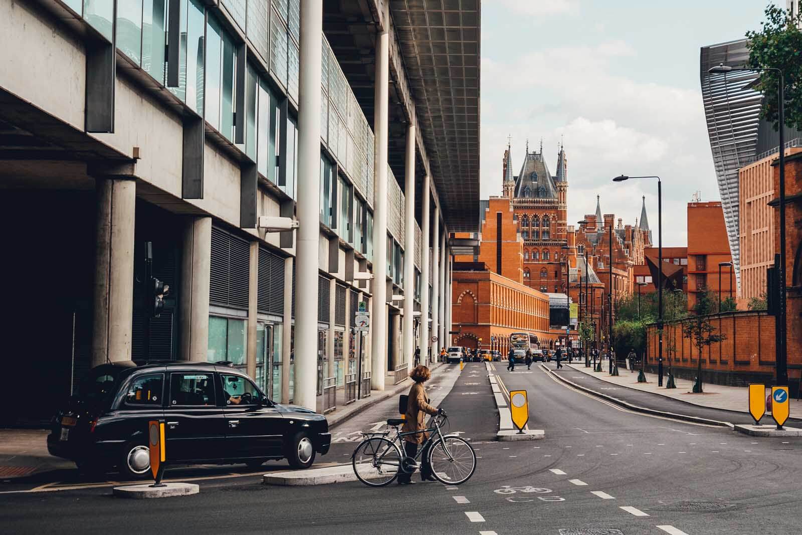
[[[225,363],[108,363],[93,368],[47,436],[51,455],[85,472],[119,468],[150,473],[148,421],[163,419],[170,464],[236,464],[255,468],[287,459],[309,468],[331,444],[326,417],[274,403]]]

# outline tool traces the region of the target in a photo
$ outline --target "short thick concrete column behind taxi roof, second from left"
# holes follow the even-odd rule
[[[181,255],[181,359],[206,362],[209,350],[209,285],[212,265],[212,218],[192,217],[184,227]]]

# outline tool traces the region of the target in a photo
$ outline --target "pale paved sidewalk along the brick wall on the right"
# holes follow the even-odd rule
[[[688,379],[674,379],[676,388],[666,389],[665,386],[658,387],[657,374],[646,373],[646,383],[638,383],[638,370],[629,371],[623,367],[618,368],[618,377],[608,374],[607,362],[602,363],[601,372],[593,372],[593,367],[585,367],[585,363],[564,364],[572,367],[576,371],[581,371],[587,375],[601,379],[607,383],[613,383],[619,387],[632,388],[634,390],[650,392],[662,395],[667,398],[678,399],[686,403],[692,403],[699,407],[723,409],[725,411],[738,411],[748,414],[748,393],[746,387],[727,387],[720,384],[703,383],[703,394],[693,393],[693,381]],[[667,373],[667,367],[664,368]],[[663,375],[663,385],[665,385],[666,375]],[[766,390],[766,395],[770,387]],[[766,415],[771,418],[770,413]],[[802,401],[791,399],[791,417],[802,418]]]

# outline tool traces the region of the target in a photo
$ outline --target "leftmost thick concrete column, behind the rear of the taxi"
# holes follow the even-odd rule
[[[131,360],[136,182],[97,178],[92,366]]]

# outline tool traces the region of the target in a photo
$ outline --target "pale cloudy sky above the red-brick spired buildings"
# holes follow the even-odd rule
[[[759,30],[769,0],[484,0],[483,199],[501,194],[508,136],[517,175],[529,140],[557,173],[568,157],[568,221],[614,213],[634,225],[641,197],[663,245],[687,245],[687,203],[719,201],[699,85],[699,48]],[[784,7],[785,2],[782,2]]]

